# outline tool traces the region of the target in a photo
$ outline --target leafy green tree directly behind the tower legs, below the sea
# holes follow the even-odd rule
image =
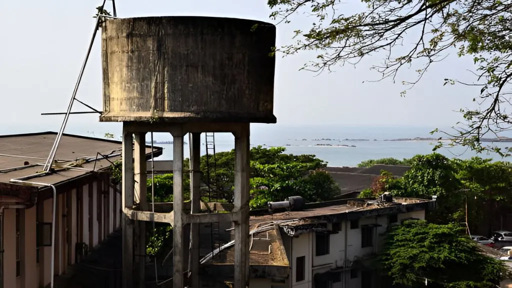
[[[334,180],[325,171],[327,163],[315,155],[284,153],[284,147],[253,147],[250,150],[250,187],[252,209],[264,208],[269,201],[284,200],[288,196],[303,196],[307,201],[332,198],[339,191]],[[214,161],[201,156],[203,181],[209,184],[211,195],[203,198],[232,201],[234,184],[234,150],[218,152]],[[210,169],[207,169],[209,163]],[[188,167],[188,160],[184,167]],[[318,170],[318,171],[316,171]],[[209,171],[209,181],[208,181]],[[310,172],[311,171],[311,172]],[[188,179],[188,173],[184,175]]]

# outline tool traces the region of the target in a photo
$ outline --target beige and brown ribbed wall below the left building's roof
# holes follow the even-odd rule
[[[94,213],[89,215],[89,186],[94,189],[93,203]],[[78,188],[78,187],[77,187]],[[94,244],[98,244],[99,227],[105,227],[105,231],[110,234],[119,228],[120,224],[120,195],[113,189],[109,189],[108,197],[102,204],[103,211],[100,211],[103,223],[98,222],[97,202],[98,195],[97,183],[91,182],[83,187],[80,210],[77,209],[78,191],[74,188],[62,193],[57,197],[56,210],[56,228],[55,228],[55,274],[60,275],[68,270],[68,267],[78,261],[75,253],[77,242],[79,242],[80,233],[83,242],[89,244],[89,250]],[[58,188],[57,188],[58,189]],[[61,193],[63,191],[59,191]],[[101,192],[100,192],[101,193]],[[66,195],[65,195],[66,194]],[[66,201],[68,197],[68,201]],[[114,208],[113,199],[116,197],[116,208]],[[36,208],[37,207],[37,208]],[[40,210],[40,211],[39,211]],[[39,288],[46,286],[51,281],[51,246],[39,246],[39,263],[36,263],[37,235],[36,222],[51,223],[53,212],[53,199],[47,199],[36,203],[34,207],[19,210],[20,215],[20,276],[16,277],[16,211],[15,209],[4,210],[4,287],[13,288]],[[83,217],[80,227],[79,216]],[[116,221],[114,222],[114,214]],[[107,216],[107,214],[109,214]],[[91,216],[91,217],[89,217]],[[89,229],[89,221],[92,221],[93,231]],[[67,225],[67,227],[66,227]],[[67,235],[66,233],[67,228]],[[94,242],[89,243],[89,235],[94,232]],[[41,233],[42,234],[42,233]],[[40,234],[40,235],[41,235]],[[108,235],[105,235],[105,237]],[[69,243],[68,239],[69,238]],[[42,244],[42,243],[40,243]],[[91,245],[93,244],[93,245]]]

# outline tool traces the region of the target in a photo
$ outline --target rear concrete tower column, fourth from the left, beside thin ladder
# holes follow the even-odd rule
[[[190,196],[191,214],[201,210],[201,133],[191,133],[190,145]],[[188,260],[189,287],[199,288],[199,223],[190,224],[190,259]]]

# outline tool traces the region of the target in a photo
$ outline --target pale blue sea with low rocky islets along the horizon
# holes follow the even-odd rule
[[[410,158],[417,154],[433,153],[435,140],[398,140],[435,138],[441,134],[431,135],[433,128],[426,127],[339,127],[339,126],[279,126],[251,125],[251,147],[285,147],[286,153],[313,154],[328,162],[329,166],[355,167],[358,163],[369,159],[393,157]],[[508,136],[508,135],[507,135]],[[148,134],[146,139],[150,139]],[[155,133],[155,141],[172,141],[167,133]],[[189,156],[188,136],[185,136],[184,156]],[[173,147],[170,143],[155,143],[163,148],[163,154],[155,160],[172,160]],[[501,148],[512,143],[485,143]],[[215,134],[216,152],[229,151],[234,148],[234,137],[228,133]],[[440,148],[436,152],[450,158],[468,159],[473,156],[508,160],[496,153],[477,154],[465,147]],[[205,134],[201,136],[201,154],[206,153]],[[211,153],[211,151],[210,151]]]

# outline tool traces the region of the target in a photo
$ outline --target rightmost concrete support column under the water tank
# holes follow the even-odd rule
[[[234,135],[234,288],[249,287],[249,124]]]

